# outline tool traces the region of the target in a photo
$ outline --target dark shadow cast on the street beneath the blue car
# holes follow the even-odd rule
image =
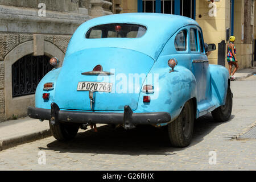
[[[230,119],[233,117],[234,115]],[[201,142],[205,135],[221,124],[214,122],[210,114],[197,119],[192,143],[188,147]],[[93,130],[78,133],[75,139],[68,142],[55,140],[48,143],[47,147],[39,147],[39,149],[61,153],[92,153],[93,155],[175,155],[175,151],[185,149],[170,146],[167,127],[158,129],[153,126],[138,126],[133,130],[125,130],[123,127],[113,129],[110,125],[98,127],[97,133]]]

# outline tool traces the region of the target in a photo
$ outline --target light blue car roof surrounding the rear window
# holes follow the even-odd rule
[[[141,38],[86,39],[86,32],[97,25],[108,23],[141,24],[147,32]],[[82,23],[69,43],[66,56],[86,48],[118,47],[142,52],[156,60],[170,37],[179,28],[199,24],[185,16],[159,13],[123,13],[100,16]]]

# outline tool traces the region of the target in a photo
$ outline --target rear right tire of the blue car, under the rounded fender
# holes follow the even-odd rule
[[[195,109],[190,100],[185,103],[179,117],[168,124],[168,135],[174,147],[187,147],[192,140]]]

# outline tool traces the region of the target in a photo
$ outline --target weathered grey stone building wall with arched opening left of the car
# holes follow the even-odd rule
[[[45,3],[46,16],[39,16]],[[0,0],[0,121],[27,115],[34,94],[14,97],[12,65],[26,55],[56,56],[63,62],[69,40],[81,23],[119,13],[121,0]]]

